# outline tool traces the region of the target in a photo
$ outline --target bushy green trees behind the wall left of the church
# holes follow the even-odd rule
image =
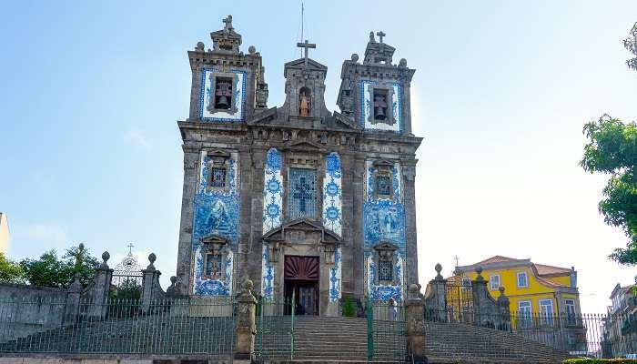
[[[62,258],[57,258],[56,250],[49,250],[39,259],[26,258],[20,262],[29,283],[57,288],[68,288],[76,273],[86,286],[93,279],[97,265],[97,258],[90,255],[84,244],[68,248]]]

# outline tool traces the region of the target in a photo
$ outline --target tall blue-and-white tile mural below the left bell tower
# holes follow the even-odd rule
[[[203,151],[200,157],[199,180],[195,196],[195,214],[193,221],[193,294],[211,296],[229,296],[232,294],[232,275],[234,267],[233,249],[238,241],[238,153],[230,153],[228,159],[228,188],[207,188],[210,173],[210,158]],[[207,279],[203,276],[202,238],[216,234],[227,238],[228,247],[224,258],[224,278]]]

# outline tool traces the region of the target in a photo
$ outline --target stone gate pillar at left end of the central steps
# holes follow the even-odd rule
[[[255,321],[257,298],[252,295],[252,287],[252,281],[247,279],[243,282],[243,290],[238,296],[235,362],[244,362],[243,360],[245,360],[246,363],[249,363],[254,355],[255,335],[257,335]]]

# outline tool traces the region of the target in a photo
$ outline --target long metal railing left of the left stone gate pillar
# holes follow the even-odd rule
[[[0,352],[203,354],[231,358],[236,345],[231,298],[0,301]]]

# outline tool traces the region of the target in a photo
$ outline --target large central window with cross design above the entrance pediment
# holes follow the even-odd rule
[[[290,219],[317,217],[317,171],[289,168],[288,214]]]

